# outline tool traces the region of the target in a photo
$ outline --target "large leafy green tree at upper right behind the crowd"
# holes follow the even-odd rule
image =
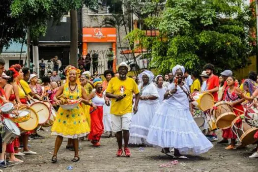
[[[243,0],[168,0],[158,17],[149,17],[147,25],[160,30],[153,41],[152,57],[160,72],[181,64],[202,69],[205,63],[217,71],[238,69],[249,63],[255,53],[255,28],[251,6]]]

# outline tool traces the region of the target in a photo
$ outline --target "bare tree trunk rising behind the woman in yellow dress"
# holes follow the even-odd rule
[[[71,19],[71,44],[70,44],[70,58],[69,64],[78,67],[78,20],[77,20],[77,10],[72,9],[70,11],[70,19]]]

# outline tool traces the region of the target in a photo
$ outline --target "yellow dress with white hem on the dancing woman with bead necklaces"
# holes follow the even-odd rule
[[[68,88],[68,83],[64,85],[63,95],[71,100],[82,98],[82,86],[78,85],[73,93]],[[77,139],[86,136],[90,128],[82,105],[79,104],[72,110],[64,110],[61,107],[58,110],[57,118],[52,126],[52,135],[63,136],[66,138]]]

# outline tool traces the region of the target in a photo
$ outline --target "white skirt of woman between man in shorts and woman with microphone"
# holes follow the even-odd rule
[[[146,143],[149,126],[159,105],[159,102],[155,100],[140,100],[138,112],[132,116],[129,138],[130,144]]]

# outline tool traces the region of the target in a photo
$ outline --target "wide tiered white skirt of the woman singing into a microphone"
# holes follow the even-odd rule
[[[161,104],[152,119],[147,142],[160,147],[174,147],[181,153],[196,155],[213,147],[197,126],[189,108],[180,109],[166,102]]]

